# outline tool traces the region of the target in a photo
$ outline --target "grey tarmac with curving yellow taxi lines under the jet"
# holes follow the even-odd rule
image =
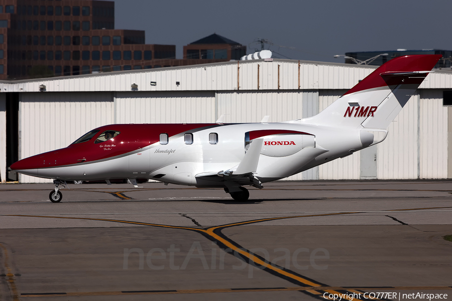
[[[452,182],[140,186],[0,185],[0,300],[452,299]]]

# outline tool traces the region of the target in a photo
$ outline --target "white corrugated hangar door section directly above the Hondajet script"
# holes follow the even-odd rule
[[[117,92],[116,123],[212,123],[215,93]]]

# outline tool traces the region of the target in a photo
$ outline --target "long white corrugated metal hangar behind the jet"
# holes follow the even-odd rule
[[[110,123],[286,121],[317,114],[376,67],[265,59],[0,82],[0,177]],[[452,72],[430,73],[385,141],[288,180],[452,178]],[[10,174],[10,179],[15,176]],[[14,180],[14,179],[13,179]],[[19,176],[22,183],[50,182]]]

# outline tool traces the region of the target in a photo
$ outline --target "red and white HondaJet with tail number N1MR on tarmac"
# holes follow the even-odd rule
[[[383,141],[387,128],[440,55],[392,59],[319,114],[278,123],[111,124],[66,148],[11,166],[55,179],[52,202],[65,181],[153,179],[220,187],[246,201],[243,186],[286,178]],[[379,136],[377,138],[377,136]]]

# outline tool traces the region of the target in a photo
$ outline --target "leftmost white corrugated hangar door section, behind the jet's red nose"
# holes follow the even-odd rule
[[[113,123],[112,94],[21,93],[19,159],[66,147],[89,130]],[[51,182],[25,175],[20,181]]]

